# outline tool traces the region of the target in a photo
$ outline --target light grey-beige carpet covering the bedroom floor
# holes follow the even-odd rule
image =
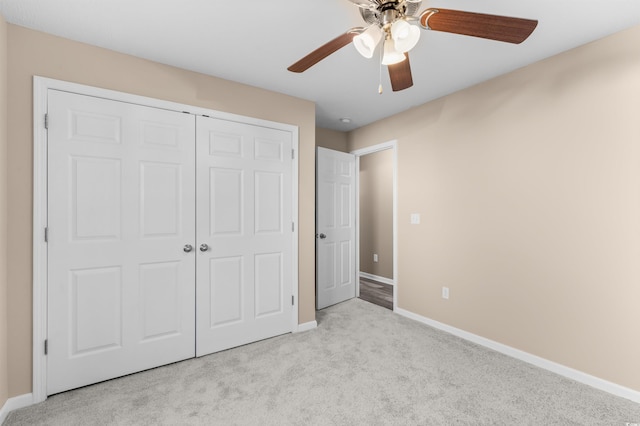
[[[617,398],[353,299],[318,328],[14,411],[13,425],[625,425]]]

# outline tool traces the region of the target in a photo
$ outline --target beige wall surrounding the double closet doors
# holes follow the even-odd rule
[[[9,394],[31,392],[34,75],[289,123],[300,130],[299,321],[315,320],[315,105],[9,25]]]

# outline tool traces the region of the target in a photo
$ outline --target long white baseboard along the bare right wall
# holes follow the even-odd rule
[[[401,308],[396,308],[395,312],[404,317],[429,325],[433,328],[437,328],[439,330],[445,331],[449,334],[453,334],[454,336],[476,343],[480,346],[484,346],[496,352],[500,352],[502,354],[508,355],[512,358],[519,359],[520,361],[524,361],[526,363],[535,365],[536,367],[540,367],[545,370],[551,371],[560,376],[564,376],[571,380],[575,380],[576,382],[580,382],[585,385],[589,385],[593,388],[599,389],[601,391],[610,393],[612,395],[616,395],[622,398],[629,399],[633,402],[640,403],[640,391],[636,391],[634,389],[630,389],[630,388],[618,385],[616,383],[612,383],[607,380],[600,379],[598,377],[592,376],[582,371],[574,370],[573,368],[564,366],[562,364],[549,361],[548,359],[544,359],[539,356],[530,354],[528,352],[524,352],[519,349],[512,348],[511,346],[507,346],[502,343],[495,342],[493,340],[478,336],[473,333],[469,333],[467,331],[452,327],[447,324],[443,324],[441,322],[432,320],[430,318],[426,318],[421,315],[414,314],[413,312],[409,312]]]

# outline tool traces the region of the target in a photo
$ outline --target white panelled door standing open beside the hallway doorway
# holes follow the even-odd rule
[[[356,158],[318,148],[316,159],[316,304],[323,309],[356,296]]]

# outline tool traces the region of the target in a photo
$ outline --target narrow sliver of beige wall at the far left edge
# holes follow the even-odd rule
[[[9,394],[7,344],[7,23],[0,15],[0,409]]]

